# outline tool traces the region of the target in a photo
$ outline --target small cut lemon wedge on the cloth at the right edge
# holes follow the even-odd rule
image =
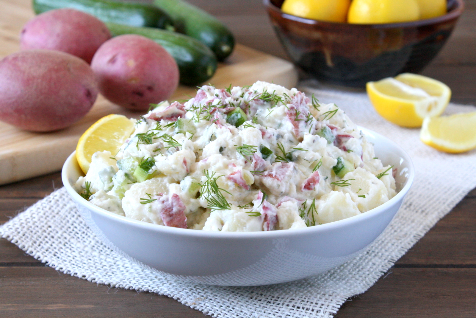
[[[457,154],[475,149],[476,112],[425,118],[420,139],[447,153]]]

